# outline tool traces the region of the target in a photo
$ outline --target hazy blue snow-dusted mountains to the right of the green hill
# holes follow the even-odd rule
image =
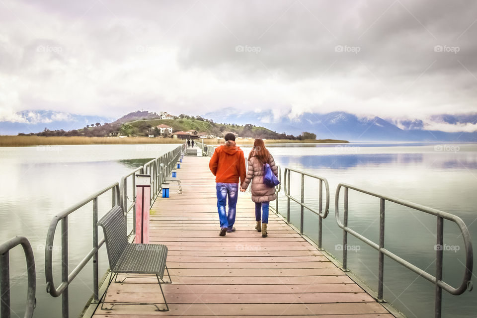
[[[239,112],[234,108],[227,108],[220,113],[205,113],[203,117],[212,119],[216,123],[260,125],[278,133],[298,135],[307,131],[315,133],[318,139],[341,139],[351,142],[477,142],[477,113],[435,115],[428,121],[423,121],[383,119],[377,116],[360,117],[342,111],[325,114],[307,112],[298,116],[286,114],[276,118],[271,110]],[[432,127],[443,127],[447,131],[432,129]],[[459,131],[462,129],[470,131]]]

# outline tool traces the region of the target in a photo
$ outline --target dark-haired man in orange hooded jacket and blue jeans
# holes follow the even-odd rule
[[[235,135],[225,135],[225,144],[216,148],[209,162],[210,171],[215,175],[217,189],[217,210],[220,220],[220,236],[234,232],[235,214],[240,184],[245,180],[245,157],[235,143]],[[225,206],[229,197],[229,213]]]

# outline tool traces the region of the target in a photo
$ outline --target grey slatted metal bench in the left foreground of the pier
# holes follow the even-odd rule
[[[134,244],[128,242],[126,220],[123,209],[119,206],[113,207],[97,223],[103,229],[106,249],[108,252],[109,268],[111,277],[109,278],[104,298],[108,292],[111,282],[116,280],[118,274],[154,274],[158,278],[160,292],[164,299],[165,309],[159,309],[155,303],[113,303],[109,309],[104,309],[104,301],[101,310],[111,310],[116,305],[152,305],[160,312],[169,310],[162,291],[161,281],[170,284],[169,271],[165,264],[167,258],[167,246],[162,244]],[[169,281],[163,280],[164,269],[167,271]],[[127,278],[127,277],[126,277]],[[125,279],[126,279],[125,278]],[[124,282],[124,280],[122,282]]]

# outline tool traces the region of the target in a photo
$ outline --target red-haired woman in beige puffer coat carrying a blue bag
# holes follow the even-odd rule
[[[275,160],[265,148],[263,140],[257,138],[248,155],[247,176],[245,177],[245,181],[241,184],[240,191],[245,191],[250,182],[252,183],[252,201],[255,202],[255,221],[257,222],[255,229],[262,233],[262,238],[267,237],[268,208],[270,201],[277,198],[275,187],[269,187],[263,182],[265,163],[270,165],[273,174],[278,177],[278,167],[275,165]]]

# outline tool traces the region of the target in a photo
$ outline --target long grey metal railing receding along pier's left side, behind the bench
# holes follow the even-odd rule
[[[93,295],[92,303],[99,302],[99,272],[98,272],[98,250],[104,244],[104,239],[98,241],[98,227],[96,225],[98,221],[98,198],[106,192],[111,192],[111,206],[120,205],[125,212],[125,218],[127,219],[128,214],[131,211],[134,211],[136,206],[136,187],[135,187],[135,176],[139,173],[150,173],[151,174],[151,205],[154,203],[154,199],[157,194],[160,192],[163,178],[170,174],[172,167],[176,164],[177,159],[180,157],[184,145],[180,145],[174,150],[153,159],[144,166],[138,167],[135,170],[131,171],[129,174],[123,176],[120,180],[120,183],[116,182],[110,186],[98,191],[85,200],[79,202],[78,204],[64,210],[62,213],[56,215],[48,229],[48,234],[46,238],[45,245],[45,277],[46,277],[46,291],[53,297],[62,296],[62,317],[69,317],[69,296],[68,296],[68,286],[79,274],[79,272],[84,268],[84,266],[93,259]],[[128,200],[127,189],[128,189],[128,180],[132,184],[132,198]],[[131,205],[128,205],[128,201],[131,201]],[[69,272],[69,253],[68,253],[68,216],[75,211],[78,211],[79,208],[84,205],[92,202],[92,249],[87,253],[87,255],[79,262],[79,264]],[[109,210],[109,208],[108,208]],[[135,213],[133,215],[133,228],[130,234],[135,233]],[[53,280],[53,242],[55,237],[56,228],[58,223],[61,221],[61,283],[58,287],[55,287]]]

